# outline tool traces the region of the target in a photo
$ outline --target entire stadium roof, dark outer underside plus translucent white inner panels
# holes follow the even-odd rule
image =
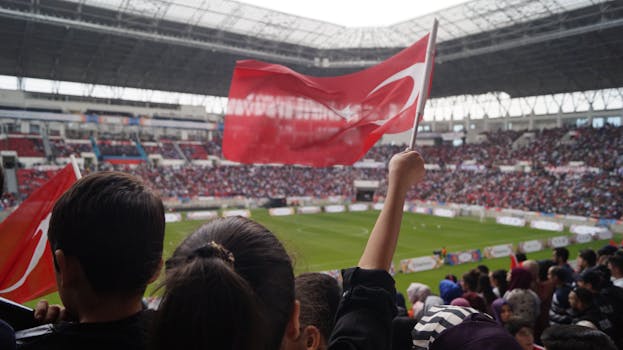
[[[623,2],[473,0],[380,28],[233,1],[0,1],[0,74],[226,96],[236,60],[350,73],[440,19],[434,97],[623,86]]]

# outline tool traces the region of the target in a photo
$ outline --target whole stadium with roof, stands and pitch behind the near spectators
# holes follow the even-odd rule
[[[205,222],[244,216],[283,241],[296,274],[341,281],[411,131],[383,135],[352,165],[232,161],[223,139],[234,67],[253,59],[349,75],[409,47],[435,18],[416,141],[426,175],[406,194],[398,292],[421,282],[438,294],[444,276],[508,270],[514,254],[547,260],[567,247],[573,261],[623,244],[623,4],[614,0],[469,0],[374,27],[237,1],[2,0],[0,216],[73,158],[83,175],[128,173],[162,198],[165,257]]]

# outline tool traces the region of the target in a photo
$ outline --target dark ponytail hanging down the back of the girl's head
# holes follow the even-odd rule
[[[264,332],[256,297],[234,263],[214,242],[167,261],[152,349],[259,348]]]

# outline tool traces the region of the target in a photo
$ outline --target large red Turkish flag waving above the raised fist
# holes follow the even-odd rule
[[[384,133],[413,127],[428,37],[376,66],[338,77],[238,61],[223,155],[241,163],[353,164]]]

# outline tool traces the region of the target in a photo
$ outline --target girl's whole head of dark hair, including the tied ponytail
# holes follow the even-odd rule
[[[294,274],[264,226],[243,217],[211,221],[166,266],[156,349],[279,348],[294,307]]]

